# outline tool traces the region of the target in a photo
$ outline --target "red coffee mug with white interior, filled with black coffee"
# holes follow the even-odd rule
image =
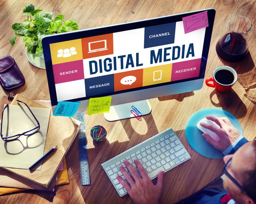
[[[209,87],[213,87],[218,92],[226,92],[236,83],[237,73],[236,70],[230,66],[219,66],[212,74],[212,78],[208,78],[205,83]],[[212,81],[212,83],[209,83]]]

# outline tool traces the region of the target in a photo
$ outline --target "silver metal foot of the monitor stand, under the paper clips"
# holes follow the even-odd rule
[[[142,115],[147,115],[152,110],[148,100],[136,101],[132,103],[110,106],[109,112],[105,112],[104,117],[107,121],[117,121],[125,118],[134,118],[135,116],[131,113],[131,106],[136,107]]]

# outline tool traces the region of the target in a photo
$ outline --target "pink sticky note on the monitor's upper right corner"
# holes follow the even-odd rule
[[[191,16],[183,17],[184,32],[189,33],[198,29],[206,28],[209,26],[207,11],[194,14]]]

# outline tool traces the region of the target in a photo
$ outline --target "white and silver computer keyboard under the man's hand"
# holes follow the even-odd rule
[[[102,167],[121,197],[126,195],[127,191],[116,179],[116,176],[120,175],[125,180],[122,172],[119,171],[119,166],[122,165],[129,173],[123,163],[123,161],[127,160],[139,172],[134,164],[135,159],[140,161],[147,171],[149,178],[152,180],[157,177],[160,171],[167,172],[184,161],[189,160],[190,155],[172,128],[169,128],[106,161],[102,164]]]

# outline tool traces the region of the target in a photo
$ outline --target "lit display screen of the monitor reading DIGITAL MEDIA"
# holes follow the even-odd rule
[[[197,29],[198,19],[186,25],[182,16],[174,19],[153,25],[150,20],[128,23],[103,32],[72,32],[71,39],[49,41],[46,64],[54,78],[52,105],[204,78],[201,60],[207,26]],[[49,82],[48,70],[47,76]]]

